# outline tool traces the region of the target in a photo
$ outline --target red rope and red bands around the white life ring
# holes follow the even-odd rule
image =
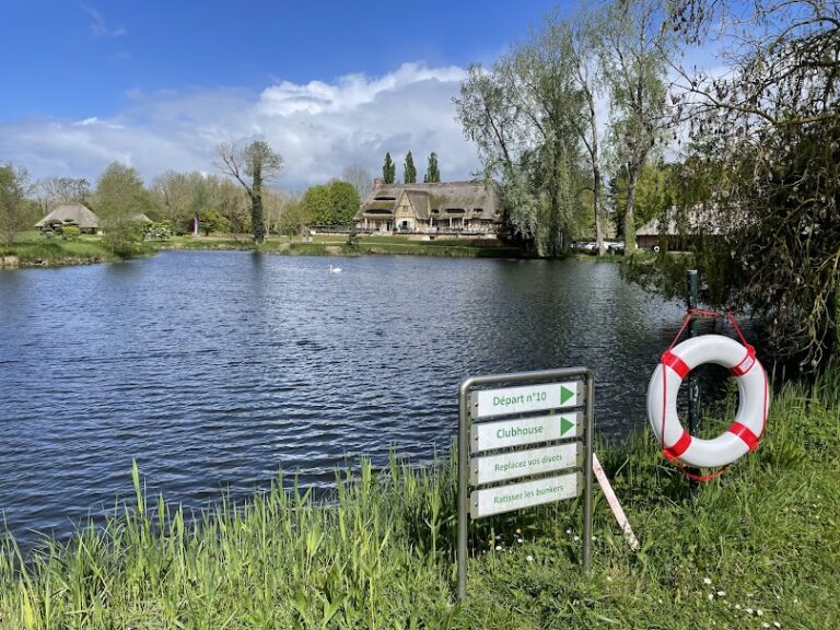
[[[661,425],[660,425],[660,448],[662,451],[663,456],[668,459],[669,462],[673,462],[677,465],[679,470],[688,478],[695,480],[695,481],[709,481],[711,479],[714,479],[715,477],[719,477],[728,466],[732,462],[728,462],[724,464],[723,466],[720,466],[716,470],[713,472],[710,472],[708,475],[698,475],[689,470],[686,465],[684,464],[681,456],[686,453],[686,451],[691,446],[691,443],[693,441],[693,438],[691,434],[685,430],[685,428],[680,427],[681,433],[679,434],[679,438],[676,439],[672,443],[670,446],[665,446],[665,429],[666,429],[666,418],[667,418],[667,408],[668,408],[668,378],[667,378],[667,372],[673,371],[676,376],[678,376],[679,381],[681,382],[688,373],[691,371],[691,368],[680,357],[677,355],[673,350],[681,337],[682,332],[687,328],[688,324],[695,319],[695,318],[726,318],[732,324],[732,327],[736,331],[738,338],[740,339],[742,345],[746,349],[746,354],[744,359],[742,359],[737,364],[730,368],[730,373],[735,377],[744,377],[746,376],[755,365],[759,365],[759,370],[762,372],[762,382],[763,382],[763,395],[762,395],[762,409],[761,409],[761,424],[760,424],[760,431],[758,434],[747,427],[746,424],[738,422],[737,420],[734,421],[728,429],[726,430],[727,433],[731,433],[738,438],[748,448],[747,452],[752,452],[758,448],[758,445],[761,441],[761,438],[765,433],[765,429],[767,427],[767,411],[768,411],[768,384],[767,384],[767,374],[763,372],[763,368],[760,368],[760,364],[758,363],[758,360],[756,359],[756,351],[747,343],[746,338],[744,337],[744,334],[742,332],[740,328],[738,327],[737,322],[735,320],[735,317],[732,315],[732,313],[715,313],[712,311],[703,311],[700,308],[690,308],[686,313],[686,316],[682,319],[682,324],[677,332],[677,335],[674,337],[673,341],[668,346],[668,348],[663,352],[662,358],[660,360],[662,364],[662,411],[661,411]],[[650,401],[649,401],[650,405]],[[678,420],[677,420],[678,421]],[[673,435],[673,433],[672,433]],[[734,459],[733,459],[734,460]]]

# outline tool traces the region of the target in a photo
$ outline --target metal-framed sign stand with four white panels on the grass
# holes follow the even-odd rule
[[[594,393],[593,374],[585,368],[471,376],[462,382],[458,599],[467,595],[469,517],[583,494],[582,563],[590,571]]]

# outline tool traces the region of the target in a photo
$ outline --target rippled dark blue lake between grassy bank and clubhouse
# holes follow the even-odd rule
[[[681,316],[581,261],[165,252],[0,272],[0,511],[24,546],[66,536],[131,495],[132,458],[192,506],[281,468],[325,487],[392,446],[428,464],[476,374],[591,368],[597,431],[620,435]]]

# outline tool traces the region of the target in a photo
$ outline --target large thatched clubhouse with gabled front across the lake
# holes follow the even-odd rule
[[[494,232],[501,222],[501,194],[493,180],[381,184],[362,201],[359,228],[390,231]]]

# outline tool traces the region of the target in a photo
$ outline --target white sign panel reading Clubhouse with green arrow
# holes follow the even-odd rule
[[[581,417],[580,412],[575,412],[476,422],[469,429],[470,451],[479,453],[493,448],[510,448],[537,442],[580,438],[583,430]]]

